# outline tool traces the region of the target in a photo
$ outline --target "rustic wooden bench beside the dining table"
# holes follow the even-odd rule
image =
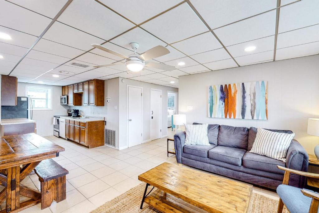
[[[41,209],[51,206],[53,200],[60,202],[66,199],[65,175],[69,171],[52,159],[41,161],[34,168],[41,182]]]

